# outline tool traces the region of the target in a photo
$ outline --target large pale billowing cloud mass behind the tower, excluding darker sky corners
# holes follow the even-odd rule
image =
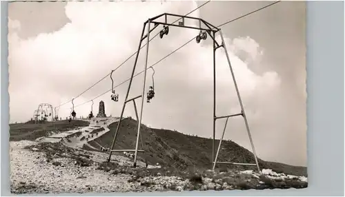
[[[186,14],[196,7],[194,1],[68,2],[65,11],[70,23],[55,32],[30,39],[19,39],[20,23],[10,20],[10,121],[27,121],[39,103],[57,106],[68,101],[115,69],[137,50],[144,21],[149,17],[163,12]],[[190,15],[199,17],[199,10]],[[197,25],[193,21],[186,23]],[[157,32],[159,28],[150,37]],[[197,30],[170,27],[164,39],[157,37],[149,43],[148,66],[197,34]],[[258,146],[257,152],[263,158],[274,158],[281,153],[273,152],[272,148],[264,149],[268,143],[257,139],[262,136],[265,136],[264,140],[270,136],[275,141],[282,139],[279,136],[288,126],[284,122],[285,114],[282,115],[278,107],[284,103],[279,92],[280,76],[272,71],[255,74],[248,68],[250,63],[259,63],[264,56],[264,49],[255,40],[250,37],[229,39],[226,33],[224,37],[254,142]],[[219,36],[216,39],[220,41]],[[144,101],[143,123],[211,136],[212,50],[211,45],[192,41],[155,66],[156,95],[152,103]],[[140,52],[136,73],[144,68],[145,52],[146,48]],[[217,116],[238,113],[237,94],[223,49],[217,50],[216,60]],[[133,63],[134,57],[114,72],[115,85],[128,79]],[[151,75],[152,71],[148,70],[146,88],[152,84]],[[129,97],[141,94],[143,77],[141,74],[134,79]],[[110,87],[111,81],[107,78],[76,98],[75,105],[95,98]],[[98,112],[98,102],[103,100],[106,114],[119,116],[127,88],[128,83],[125,83],[116,89],[120,95],[118,103],[110,101],[110,93],[95,99],[94,114]],[[139,101],[137,105],[140,106]],[[59,116],[69,116],[70,107],[70,103],[63,105]],[[91,103],[76,107],[77,116],[87,116],[90,107]],[[135,117],[131,105],[126,107],[125,116]],[[223,127],[220,123],[224,120],[217,123],[217,137]],[[250,149],[243,118],[232,120],[226,138],[234,138]],[[275,145],[279,146],[279,143]]]

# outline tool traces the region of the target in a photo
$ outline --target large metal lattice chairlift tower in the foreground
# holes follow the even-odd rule
[[[164,21],[158,21],[158,19],[161,19],[164,17]],[[179,21],[179,24],[178,25],[175,25],[175,24],[170,24],[168,23],[168,17],[179,17],[180,21]],[[186,19],[189,19],[189,20],[194,20],[194,21],[199,21],[199,26],[198,27],[195,27],[195,26],[192,26],[192,25],[185,25],[184,21]],[[153,24],[153,28],[151,28],[151,24]],[[135,63],[134,63],[134,66],[132,68],[132,74],[130,76],[130,81],[129,81],[129,85],[128,85],[128,90],[127,90],[127,93],[126,93],[126,98],[125,98],[125,101],[124,101],[124,105],[122,107],[122,110],[121,110],[121,115],[120,115],[120,119],[119,119],[119,122],[117,123],[117,129],[116,129],[116,132],[115,132],[115,136],[114,136],[114,139],[112,141],[112,147],[111,147],[111,151],[110,151],[110,154],[109,154],[109,158],[108,158],[108,162],[110,162],[110,159],[111,159],[111,156],[112,156],[112,152],[119,152],[119,151],[124,151],[124,150],[118,150],[118,149],[114,149],[115,147],[115,142],[116,142],[116,139],[117,139],[117,134],[119,133],[119,128],[120,128],[120,125],[121,125],[121,121],[122,121],[122,118],[124,116],[124,110],[126,108],[126,104],[129,103],[130,101],[133,101],[133,104],[134,104],[134,107],[135,107],[135,114],[137,116],[137,121],[138,121],[138,126],[137,126],[137,141],[135,143],[135,149],[131,149],[131,150],[126,150],[126,151],[131,151],[131,152],[135,152],[135,158],[134,158],[134,167],[137,166],[137,154],[138,152],[144,152],[144,150],[138,150],[138,145],[139,145],[139,136],[140,136],[140,129],[141,129],[141,120],[142,120],[142,117],[143,117],[143,109],[144,109],[144,96],[145,96],[145,87],[146,87],[146,71],[147,71],[147,68],[148,68],[148,45],[149,45],[149,40],[150,40],[150,33],[155,30],[155,28],[157,28],[159,25],[163,25],[163,29],[161,30],[159,36],[162,38],[164,37],[164,34],[168,34],[168,28],[169,26],[174,26],[174,27],[179,27],[179,28],[190,28],[190,29],[195,29],[195,30],[199,30],[200,33],[199,35],[196,37],[196,40],[197,40],[197,43],[199,43],[201,40],[205,40],[207,38],[207,34],[210,36],[211,39],[213,39],[213,147],[212,147],[212,161],[213,161],[213,169],[215,169],[215,165],[217,163],[222,163],[222,164],[232,164],[232,165],[254,165],[254,166],[257,166],[257,170],[260,172],[260,169],[259,169],[259,163],[257,162],[257,155],[255,153],[255,147],[254,147],[254,144],[253,144],[253,140],[252,140],[252,137],[250,135],[250,129],[249,129],[249,125],[248,125],[248,121],[247,121],[247,118],[246,118],[246,113],[244,111],[244,107],[243,107],[243,104],[242,104],[242,99],[241,99],[241,96],[239,94],[239,90],[238,90],[238,87],[237,87],[237,82],[236,82],[236,79],[235,79],[235,74],[233,72],[233,67],[230,63],[230,58],[229,58],[229,55],[228,55],[228,50],[226,49],[226,44],[225,44],[225,41],[224,41],[224,37],[223,37],[223,34],[221,33],[221,30],[217,27],[215,27],[214,25],[204,21],[204,19],[199,19],[199,18],[195,18],[195,17],[187,17],[187,16],[181,16],[181,15],[178,15],[178,14],[168,14],[168,13],[164,13],[164,14],[159,14],[157,17],[153,17],[151,19],[148,19],[148,21],[146,21],[144,23],[144,27],[143,27],[143,30],[141,32],[141,37],[140,37],[140,40],[139,40],[139,46],[138,46],[138,50],[137,50],[137,56],[135,57]],[[147,33],[145,33],[145,28],[147,28]],[[216,40],[215,40],[215,34],[216,33],[219,33],[220,37],[221,37],[221,43],[218,43]],[[145,65],[144,65],[144,80],[143,80],[143,87],[142,87],[142,92],[141,92],[141,95],[138,95],[138,96],[135,96],[134,98],[128,98],[128,95],[129,95],[129,92],[130,92],[130,87],[132,85],[132,79],[133,79],[133,76],[135,74],[135,68],[137,67],[137,61],[138,61],[138,56],[139,56],[139,52],[140,52],[140,48],[141,48],[141,43],[147,39],[147,44],[146,44],[146,61],[145,61]],[[224,48],[224,51],[225,51],[225,54],[226,54],[226,59],[228,61],[228,65],[229,65],[229,68],[230,68],[230,73],[231,73],[231,76],[233,78],[233,83],[235,85],[235,90],[237,92],[237,98],[239,100],[239,105],[241,107],[241,112],[237,113],[237,114],[229,114],[229,115],[226,115],[226,116],[216,116],[216,110],[215,110],[215,106],[216,106],[216,63],[215,63],[215,52],[218,48]],[[135,103],[135,100],[137,98],[141,98],[141,107],[140,107],[140,114],[138,115],[137,113],[137,106],[136,106],[136,103]],[[217,161],[217,157],[218,157],[218,154],[219,154],[219,149],[221,147],[221,141],[223,140],[224,138],[224,133],[226,131],[226,125],[228,123],[228,118],[230,117],[235,117],[235,116],[242,116],[244,118],[244,123],[246,125],[246,130],[248,132],[248,137],[249,137],[249,140],[250,140],[250,145],[252,147],[252,150],[253,150],[253,154],[254,154],[254,158],[255,158],[255,163],[232,163],[232,162],[221,162],[221,161]],[[225,124],[225,127],[224,127],[224,131],[222,133],[222,136],[221,136],[221,140],[219,141],[219,145],[218,145],[218,148],[217,148],[217,153],[215,153],[215,123],[217,121],[217,119],[221,119],[221,118],[226,118],[226,124]],[[142,139],[141,139],[141,143],[142,143]],[[142,147],[144,148],[144,147]]]

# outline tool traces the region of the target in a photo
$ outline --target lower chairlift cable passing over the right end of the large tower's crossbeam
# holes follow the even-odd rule
[[[252,12],[249,12],[249,13],[247,13],[247,14],[244,14],[244,15],[242,15],[241,17],[237,17],[237,18],[235,18],[235,19],[232,19],[232,20],[230,20],[230,21],[227,21],[226,23],[222,23],[221,25],[218,25],[217,28],[219,28],[219,27],[221,27],[221,26],[224,26],[224,25],[226,25],[226,24],[228,24],[228,23],[231,23],[231,22],[233,22],[233,21],[236,21],[236,20],[238,20],[238,19],[242,19],[242,18],[244,18],[244,17],[247,17],[248,15],[253,14],[253,13],[255,13],[255,12],[258,12],[258,11],[260,11],[260,10],[264,10],[265,8],[268,8],[268,7],[270,7],[270,6],[273,6],[274,4],[279,3],[279,2],[281,2],[281,1],[275,1],[274,3],[270,3],[268,6],[264,6],[264,7],[262,7],[262,8],[257,9],[257,10],[254,10],[254,11],[252,11]],[[193,39],[195,39],[195,37],[193,37]],[[193,39],[190,39],[190,41],[193,41]],[[173,52],[170,52],[170,54],[164,56],[162,59],[160,59],[159,61],[157,61],[156,63],[154,63],[154,64],[151,65],[150,67],[153,67],[154,65],[157,65],[159,62],[163,61],[163,60],[166,59],[168,56],[170,56],[171,54],[177,52],[177,50],[183,48],[185,45],[187,45],[188,43],[190,43],[190,41],[184,43],[183,45],[181,45],[179,48],[177,48],[177,49],[174,50]],[[148,70],[150,67],[148,67],[146,70]],[[134,78],[135,76],[138,76],[139,74],[141,74],[141,73],[143,73],[143,72],[144,72],[144,70],[142,70],[141,72],[135,74],[135,75],[133,76],[133,78]],[[115,87],[119,87],[120,85],[126,83],[126,82],[129,81],[129,80],[130,80],[130,78],[127,79],[126,81],[123,81],[122,83],[119,83],[119,84],[116,85]],[[111,89],[110,89],[110,90],[111,90]],[[106,94],[106,93],[109,92],[110,90],[107,90],[106,92],[103,92],[102,94],[99,94],[99,95],[96,96],[95,98],[92,98],[90,101],[95,100],[96,98],[99,98],[100,96],[103,96],[104,94]],[[86,101],[86,102],[84,102],[84,103],[81,103],[81,104],[79,104],[79,105],[76,105],[75,107],[79,107],[79,106],[81,106],[81,105],[83,105],[83,104],[89,103],[90,101]]]

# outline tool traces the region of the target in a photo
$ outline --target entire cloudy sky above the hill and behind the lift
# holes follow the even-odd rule
[[[127,2],[14,2],[9,6],[10,122],[32,118],[40,103],[57,106],[70,101],[103,78],[133,54],[139,45],[144,21],[168,12],[184,15],[205,1]],[[189,16],[219,25],[273,1],[211,1]],[[305,3],[282,1],[221,27],[250,132],[259,158],[307,165],[306,159],[306,46]],[[177,18],[168,18],[172,23]],[[198,25],[186,20],[186,25]],[[157,28],[150,34],[154,36]],[[170,27],[163,39],[149,43],[148,66],[190,41],[198,30]],[[219,34],[217,41],[221,41]],[[143,44],[146,41],[143,42]],[[145,66],[146,48],[139,53],[135,73]],[[135,58],[112,76],[115,85],[130,77]],[[240,112],[224,49],[216,53],[216,115]],[[155,65],[155,98],[144,101],[142,123],[175,129],[209,138],[213,134],[213,46],[191,41]],[[133,79],[128,98],[142,92],[144,75]],[[146,90],[152,85],[152,70]],[[75,99],[90,101],[111,88],[110,77]],[[128,83],[75,107],[77,116],[98,113],[104,101],[106,114],[119,116]],[[124,116],[135,117],[126,106]],[[138,107],[141,106],[137,100]],[[57,108],[59,116],[70,114],[72,103]],[[216,138],[225,119],[217,120]],[[230,118],[224,138],[251,150],[242,116]]]

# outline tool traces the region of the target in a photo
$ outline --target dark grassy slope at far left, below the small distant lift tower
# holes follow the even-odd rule
[[[77,127],[86,127],[89,123],[86,121],[56,121],[55,126],[51,122],[48,123],[19,123],[10,124],[10,141],[34,141],[35,139],[47,136],[50,132],[65,132]]]

